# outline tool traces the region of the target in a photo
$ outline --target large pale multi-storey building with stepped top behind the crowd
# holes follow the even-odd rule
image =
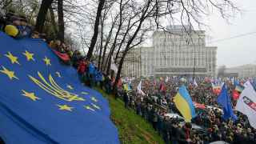
[[[214,76],[217,47],[207,47],[205,31],[190,30],[183,26],[171,26],[168,31],[155,31],[152,47],[138,47],[126,59],[138,59],[125,63],[126,76]],[[129,67],[139,65],[130,71]],[[136,66],[135,66],[136,67]],[[128,70],[128,71],[127,71]],[[136,73],[136,74],[135,74]]]

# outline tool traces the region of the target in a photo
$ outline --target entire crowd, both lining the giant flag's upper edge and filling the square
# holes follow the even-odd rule
[[[46,34],[39,34],[30,26],[26,17],[10,11],[5,17],[0,18],[0,30],[13,38],[42,38],[49,47],[58,55],[61,62],[74,66],[78,70],[81,81],[86,86],[96,86],[97,84],[111,93],[113,84],[112,78],[102,73],[93,62],[86,60],[78,51],[70,45],[58,39],[50,38]],[[245,115],[235,112],[238,120],[224,121],[222,111],[219,109],[197,109],[198,116],[192,119],[192,123],[182,122],[182,119],[169,117],[168,113],[179,114],[174,105],[174,95],[177,94],[180,86],[179,78],[169,78],[168,81],[146,79],[142,83],[142,91],[145,94],[137,93],[138,80],[134,80],[130,86],[130,91],[119,89],[117,95],[125,102],[127,109],[133,109],[142,118],[152,124],[154,130],[162,136],[167,144],[169,143],[190,143],[201,144],[214,141],[225,141],[229,143],[256,143],[256,130],[252,128]],[[219,107],[216,102],[217,94],[214,94],[209,82],[200,80],[198,86],[193,82],[186,82],[187,90],[194,102],[204,105]],[[232,84],[229,85],[229,92],[234,90]],[[232,99],[235,106],[235,100]],[[180,114],[181,115],[181,114]],[[202,129],[193,128],[196,124]]]

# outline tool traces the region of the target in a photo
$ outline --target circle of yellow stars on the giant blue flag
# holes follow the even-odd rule
[[[34,58],[33,58],[34,54],[30,53],[29,51],[25,50],[25,52],[22,53],[22,54],[26,56],[27,61],[35,61]],[[16,64],[20,65],[20,63],[18,62],[18,57],[14,56],[10,52],[7,52],[7,54],[5,54],[5,56],[7,58],[9,58],[9,60],[12,64],[16,63]],[[49,58],[45,57],[45,58],[43,58],[43,61],[46,63],[46,66],[51,66]],[[18,79],[18,77],[15,76],[14,71],[8,70],[5,66],[2,66],[2,70],[0,70],[0,72],[2,74],[6,74],[6,76],[8,76],[8,78],[10,78],[10,80]],[[59,78],[62,78],[61,74],[58,71],[55,74],[57,74]],[[67,85],[66,87],[70,90],[74,90],[74,88],[70,85]],[[89,94],[89,93],[82,92],[82,94]],[[30,93],[26,90],[22,90],[22,95],[25,96],[26,98],[30,98],[32,101],[37,101],[37,100],[41,99],[41,98],[38,98],[33,92]],[[98,100],[94,97],[91,97],[90,99],[93,102],[98,102]],[[58,106],[58,110],[72,111],[74,109],[74,107],[71,107],[71,106],[68,106],[68,105],[56,105],[56,106]],[[90,106],[87,105],[87,106],[83,106],[83,107],[86,110],[91,110],[91,111],[95,111],[95,109],[101,110],[100,106],[97,106],[94,103],[90,103]]]

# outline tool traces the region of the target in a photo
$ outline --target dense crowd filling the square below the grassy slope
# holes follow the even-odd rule
[[[216,141],[234,144],[256,143],[256,130],[250,126],[245,115],[235,111],[237,121],[225,121],[222,118],[223,113],[217,103],[218,94],[214,94],[210,82],[202,80],[197,86],[193,81],[185,83],[193,102],[209,106],[204,109],[196,108],[197,117],[193,118],[191,123],[182,122],[179,117],[168,116],[168,113],[182,116],[173,101],[182,83],[178,78],[169,78],[166,82],[145,79],[142,82],[142,91],[145,94],[138,94],[138,83],[138,80],[131,82],[132,90],[122,89],[120,96],[126,108],[135,110],[138,115],[150,122],[167,144],[204,144]],[[232,82],[227,83],[231,95],[234,85]],[[231,100],[235,106],[235,100]],[[200,129],[194,126],[200,126]]]

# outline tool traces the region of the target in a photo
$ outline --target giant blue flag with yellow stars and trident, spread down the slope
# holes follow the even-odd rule
[[[108,102],[41,39],[0,32],[0,137],[7,144],[119,143]]]

